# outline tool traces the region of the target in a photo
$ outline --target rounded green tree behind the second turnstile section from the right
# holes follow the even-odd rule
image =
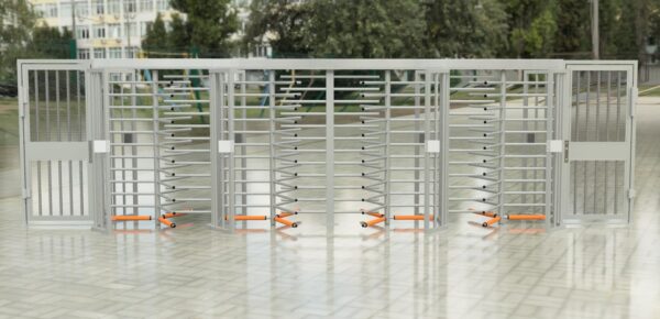
[[[431,57],[495,57],[508,46],[507,15],[496,0],[427,0],[424,6]]]

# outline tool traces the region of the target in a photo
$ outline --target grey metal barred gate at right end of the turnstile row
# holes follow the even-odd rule
[[[629,222],[634,156],[634,65],[568,64],[562,222]]]

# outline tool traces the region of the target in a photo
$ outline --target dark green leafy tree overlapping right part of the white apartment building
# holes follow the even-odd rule
[[[183,38],[201,55],[227,57],[232,53],[234,43],[230,36],[238,30],[238,19],[230,2],[230,0],[172,1],[172,8],[187,16],[187,20],[182,22],[186,25],[187,33]]]

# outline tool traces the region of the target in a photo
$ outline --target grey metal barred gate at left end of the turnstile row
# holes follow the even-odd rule
[[[87,64],[21,63],[23,209],[29,226],[89,226]]]

